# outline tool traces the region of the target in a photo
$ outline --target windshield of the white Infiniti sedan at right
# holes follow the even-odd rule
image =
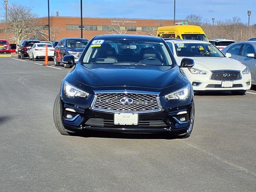
[[[212,44],[205,43],[178,43],[175,44],[177,56],[180,57],[225,57]]]

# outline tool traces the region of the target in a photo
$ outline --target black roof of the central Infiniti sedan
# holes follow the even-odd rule
[[[94,36],[95,40],[100,39],[132,39],[132,40],[145,40],[145,41],[155,41],[163,42],[162,38],[149,36],[149,35],[128,35],[128,34],[107,34],[107,35],[97,35]]]

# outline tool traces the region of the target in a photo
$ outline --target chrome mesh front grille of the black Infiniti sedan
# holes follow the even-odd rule
[[[122,104],[122,98],[130,98],[133,103]],[[141,93],[96,93],[93,110],[106,112],[156,112],[160,111],[158,95]]]

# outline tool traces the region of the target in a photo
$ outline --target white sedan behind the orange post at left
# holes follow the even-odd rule
[[[48,46],[48,59],[54,58],[54,48],[50,43],[35,43],[29,50],[28,59],[36,61],[45,59],[46,45]]]

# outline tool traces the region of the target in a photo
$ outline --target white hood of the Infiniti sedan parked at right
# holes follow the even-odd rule
[[[182,58],[177,59],[180,64]],[[194,68],[204,70],[242,70],[246,66],[237,60],[228,57],[191,57],[194,60]]]

